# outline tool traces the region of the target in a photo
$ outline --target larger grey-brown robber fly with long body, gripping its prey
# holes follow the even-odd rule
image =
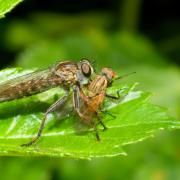
[[[86,59],[83,59],[78,63],[65,61],[60,62],[49,69],[35,71],[0,84],[0,102],[31,96],[57,86],[63,88],[65,92],[63,97],[58,99],[47,109],[37,136],[29,143],[23,144],[22,146],[30,146],[39,139],[47,115],[62,107],[68,99],[70,88],[73,89],[73,92],[77,89],[76,86],[81,90],[81,87],[89,82],[92,73],[93,68]]]

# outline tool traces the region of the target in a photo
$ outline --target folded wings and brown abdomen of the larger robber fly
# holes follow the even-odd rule
[[[48,89],[50,69],[35,71],[0,83],[0,102],[30,96]]]

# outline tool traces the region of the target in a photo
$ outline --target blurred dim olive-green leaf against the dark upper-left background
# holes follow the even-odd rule
[[[21,50],[39,41],[56,41],[71,34],[86,34],[89,31],[106,28],[109,16],[106,14],[83,14],[65,16],[57,13],[33,13],[28,20],[14,19],[5,32],[5,43],[10,50]]]

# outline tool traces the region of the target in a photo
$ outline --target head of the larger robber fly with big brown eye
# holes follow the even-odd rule
[[[82,59],[78,63],[78,81],[80,84],[88,84],[91,79],[92,74],[94,73],[94,69],[87,59]]]

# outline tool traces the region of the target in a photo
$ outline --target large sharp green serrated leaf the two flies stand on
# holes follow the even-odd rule
[[[28,71],[29,72],[29,71]],[[27,73],[21,69],[0,72],[0,81]],[[0,103],[0,155],[5,156],[50,156],[93,158],[125,155],[127,144],[152,137],[158,130],[180,128],[180,122],[169,116],[165,108],[150,104],[150,93],[134,91],[133,86],[115,82],[110,93],[126,88],[120,101],[106,99],[105,108],[113,114],[103,115],[108,130],[98,126],[101,141],[97,142],[92,129],[80,133],[75,125],[79,119],[73,114],[51,113],[40,140],[31,147],[20,145],[29,142],[37,133],[47,107],[62,96],[55,88],[44,93]],[[71,104],[71,99],[70,99]],[[61,116],[61,120],[59,120]]]

